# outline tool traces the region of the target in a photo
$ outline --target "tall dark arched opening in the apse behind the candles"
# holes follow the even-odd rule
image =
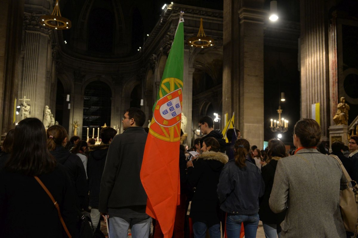
[[[82,138],[87,138],[87,127],[89,138],[92,138],[93,129],[96,138],[97,128],[101,130],[105,123],[111,125],[111,97],[112,90],[105,82],[88,83],[84,89]]]

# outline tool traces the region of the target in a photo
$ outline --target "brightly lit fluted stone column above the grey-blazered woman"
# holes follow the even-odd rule
[[[327,137],[329,122],[329,63],[325,29],[325,1],[302,0],[301,118],[312,118],[311,105],[320,103],[320,125]],[[309,12],[309,14],[307,14]]]

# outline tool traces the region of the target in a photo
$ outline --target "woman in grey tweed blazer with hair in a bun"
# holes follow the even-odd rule
[[[270,208],[287,208],[281,237],[345,237],[339,209],[339,190],[345,182],[338,162],[316,150],[321,128],[312,119],[296,123],[294,156],[277,163]]]

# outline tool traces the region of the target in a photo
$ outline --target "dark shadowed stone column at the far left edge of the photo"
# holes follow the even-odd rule
[[[14,127],[14,100],[19,98],[24,0],[0,0],[0,6],[0,133],[4,135]]]

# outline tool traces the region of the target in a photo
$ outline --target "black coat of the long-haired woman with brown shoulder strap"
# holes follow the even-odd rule
[[[76,199],[66,168],[57,164],[54,171],[38,177],[59,204],[69,232],[76,237]],[[34,177],[0,171],[0,237],[66,237],[57,209]]]

